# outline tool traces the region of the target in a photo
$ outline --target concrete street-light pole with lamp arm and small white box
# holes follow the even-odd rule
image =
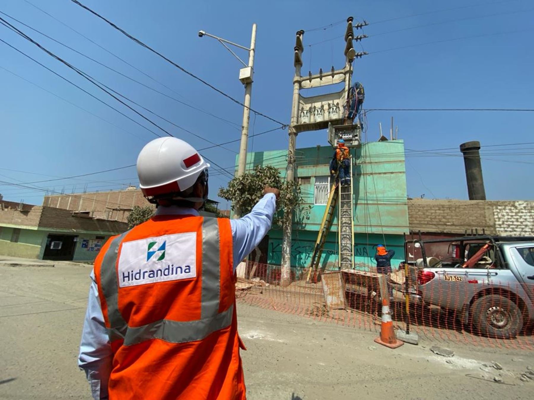
[[[253,75],[254,75],[254,53],[256,50],[256,24],[254,23],[252,25],[252,37],[250,38],[250,48],[241,46],[239,44],[227,41],[225,39],[222,39],[220,37],[210,35],[206,33],[205,31],[201,30],[199,31],[199,37],[202,36],[208,36],[213,37],[214,39],[217,39],[219,43],[221,43],[224,47],[226,47],[226,50],[228,50],[230,53],[233,54],[235,58],[237,58],[242,65],[244,65],[244,68],[241,68],[239,70],[239,81],[241,81],[242,84],[245,85],[245,107],[243,108],[243,123],[241,125],[241,145],[239,147],[239,158],[238,158],[238,169],[237,169],[237,177],[240,177],[242,174],[245,173],[245,167],[247,165],[247,145],[248,145],[248,125],[250,121],[250,97],[252,96],[252,82],[253,82]],[[237,54],[235,54],[230,47],[228,47],[227,44],[230,44],[235,47],[239,47],[239,49],[247,50],[248,51],[248,65],[241,60]],[[234,211],[234,218],[240,218],[241,216],[241,210],[236,209]]]

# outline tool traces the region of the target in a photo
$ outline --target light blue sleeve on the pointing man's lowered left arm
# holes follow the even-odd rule
[[[92,282],[83,323],[78,366],[85,371],[93,399],[101,400],[108,398],[107,383],[111,373],[113,353],[100,308],[94,271],[91,271],[90,276]]]

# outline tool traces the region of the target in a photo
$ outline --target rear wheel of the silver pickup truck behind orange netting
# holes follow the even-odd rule
[[[516,303],[497,294],[477,299],[470,314],[474,326],[490,338],[513,339],[523,328],[523,315]]]

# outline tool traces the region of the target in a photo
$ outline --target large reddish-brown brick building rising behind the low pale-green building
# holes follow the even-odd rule
[[[126,222],[134,206],[150,205],[139,189],[45,196],[43,205],[70,211],[89,211],[91,217]]]

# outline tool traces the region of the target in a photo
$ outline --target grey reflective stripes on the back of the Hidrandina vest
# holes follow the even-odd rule
[[[202,293],[201,318],[196,321],[160,319],[143,326],[129,327],[119,311],[119,283],[116,263],[119,245],[128,232],[117,236],[101,263],[101,287],[108,309],[111,327],[107,329],[110,341],[123,339],[124,346],[145,340],[161,339],[171,343],[202,340],[209,334],[232,323],[233,305],[219,313],[219,227],[216,218],[204,218],[202,223]]]

